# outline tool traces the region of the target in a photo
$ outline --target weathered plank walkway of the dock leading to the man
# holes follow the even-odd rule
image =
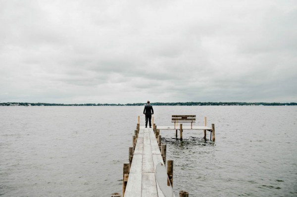
[[[155,133],[139,128],[124,197],[174,197]]]

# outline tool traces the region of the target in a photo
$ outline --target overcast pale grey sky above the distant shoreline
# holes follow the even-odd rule
[[[0,102],[297,102],[296,0],[0,0]]]

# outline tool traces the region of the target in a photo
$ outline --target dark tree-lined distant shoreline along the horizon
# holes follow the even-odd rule
[[[143,106],[145,103],[85,103],[85,104],[59,104],[59,103],[32,103],[32,102],[2,102],[0,106]],[[154,106],[232,106],[232,105],[264,105],[285,106],[297,105],[297,102],[154,102]]]

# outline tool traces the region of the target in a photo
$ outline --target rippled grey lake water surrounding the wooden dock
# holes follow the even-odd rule
[[[197,115],[203,131],[161,131],[175,195],[296,197],[297,106],[154,106],[155,123]],[[110,197],[143,106],[0,107],[0,196]],[[141,126],[144,116],[141,116]],[[185,124],[186,125],[186,124]]]

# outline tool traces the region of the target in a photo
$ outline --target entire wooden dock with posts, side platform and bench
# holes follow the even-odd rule
[[[215,140],[214,124],[193,126],[196,115],[172,115],[174,126],[156,126],[152,117],[152,128],[140,127],[140,116],[133,136],[133,147],[129,147],[129,163],[123,166],[123,197],[175,197],[173,193],[173,160],[168,160],[166,167],[166,145],[161,144],[160,130],[180,130],[180,140],[183,140],[183,130],[203,130],[210,132],[210,139]],[[184,126],[183,123],[191,123]],[[213,135],[211,138],[211,134]],[[111,197],[121,197],[119,193]],[[189,197],[189,193],[180,191],[179,197]]]

